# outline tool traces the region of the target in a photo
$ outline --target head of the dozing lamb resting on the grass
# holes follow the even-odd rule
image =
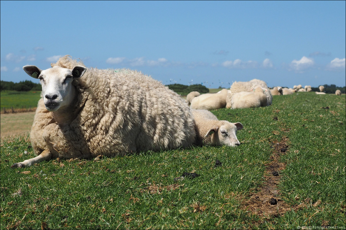
[[[204,137],[211,136],[211,143],[216,146],[239,146],[240,142],[237,139],[237,130],[243,129],[240,122],[231,123],[229,121],[218,121]]]

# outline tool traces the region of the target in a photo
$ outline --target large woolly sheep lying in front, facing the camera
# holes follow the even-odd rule
[[[88,159],[184,148],[195,141],[189,106],[161,82],[134,70],[86,68],[70,56],[51,66],[23,67],[42,84],[30,132],[37,157],[12,168],[56,157]]]

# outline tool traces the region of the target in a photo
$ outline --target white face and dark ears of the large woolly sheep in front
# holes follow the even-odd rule
[[[82,77],[86,71],[84,66],[75,66],[73,69],[54,66],[46,70],[24,66],[23,69],[29,76],[40,80],[46,109],[53,112],[72,103],[75,96],[72,81]]]

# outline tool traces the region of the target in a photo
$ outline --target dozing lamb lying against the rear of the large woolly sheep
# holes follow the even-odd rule
[[[192,114],[196,126],[197,145],[208,144],[211,146],[239,146],[237,130],[243,129],[240,122],[231,123],[226,120],[218,120],[217,117],[208,110],[192,109]]]

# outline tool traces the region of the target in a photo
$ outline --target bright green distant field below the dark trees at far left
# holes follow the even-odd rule
[[[40,99],[41,91],[28,91],[28,92],[18,92],[18,91],[1,91],[0,92],[0,107],[1,109],[11,108],[21,109],[21,108],[34,108],[37,107],[37,102]]]

